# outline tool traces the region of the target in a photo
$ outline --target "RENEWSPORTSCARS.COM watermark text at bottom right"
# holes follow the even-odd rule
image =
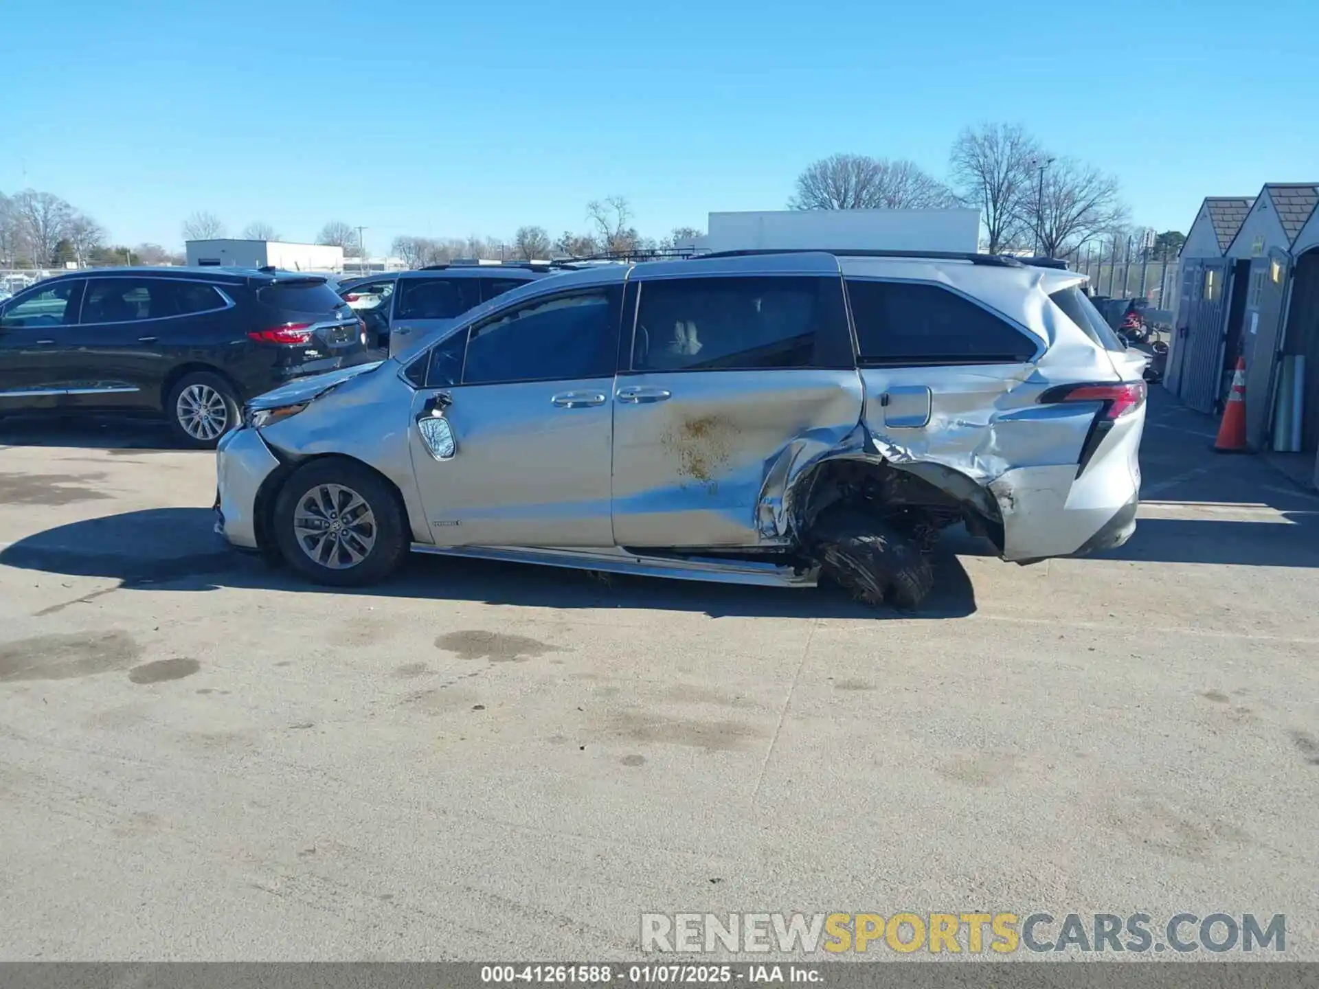
[[[814,955],[917,951],[1146,953],[1287,948],[1285,914],[642,914],[641,951]]]

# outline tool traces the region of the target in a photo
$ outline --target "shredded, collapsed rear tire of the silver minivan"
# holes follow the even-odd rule
[[[811,541],[824,575],[869,605],[913,609],[934,587],[934,570],[915,542],[856,509],[827,510]]]

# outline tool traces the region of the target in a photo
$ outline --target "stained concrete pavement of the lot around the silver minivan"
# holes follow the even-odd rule
[[[1286,913],[1314,957],[1319,498],[1211,435],[1155,401],[1128,547],[963,545],[901,617],[439,559],[327,593],[220,550],[162,431],[3,427],[0,957],[971,909]]]

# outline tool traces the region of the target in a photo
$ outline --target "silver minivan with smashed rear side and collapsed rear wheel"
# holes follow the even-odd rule
[[[896,252],[565,272],[251,401],[216,529],[335,585],[415,550],[915,607],[947,526],[1018,563],[1134,530],[1144,359],[1083,282]]]

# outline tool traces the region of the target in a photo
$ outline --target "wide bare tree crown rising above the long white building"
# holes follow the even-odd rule
[[[905,158],[831,154],[797,177],[793,210],[930,210],[955,196],[919,165]]]

